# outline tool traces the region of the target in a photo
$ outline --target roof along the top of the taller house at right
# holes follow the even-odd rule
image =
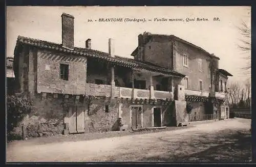
[[[208,56],[211,57],[211,58],[216,58],[216,59],[220,60],[220,58],[216,57],[214,54],[210,54],[208,51],[204,50],[203,48],[201,48],[201,47],[199,47],[197,45],[194,45],[193,43],[190,43],[188,41],[185,41],[185,40],[183,40],[183,39],[181,39],[181,38],[179,38],[179,37],[177,37],[175,35],[148,34],[148,38],[146,39],[145,43],[149,42],[152,37],[165,37],[165,38],[169,38],[169,39],[174,39],[174,40],[180,41],[182,43],[185,43],[185,44],[188,44],[188,45],[193,46],[195,48],[198,48],[199,50],[201,50],[201,51],[205,52],[206,54],[208,54]],[[135,55],[137,53],[137,51],[138,51],[138,47],[132,52],[131,55]]]

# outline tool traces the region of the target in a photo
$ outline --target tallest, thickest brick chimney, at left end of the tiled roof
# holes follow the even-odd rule
[[[74,16],[62,13],[62,47],[74,49]]]

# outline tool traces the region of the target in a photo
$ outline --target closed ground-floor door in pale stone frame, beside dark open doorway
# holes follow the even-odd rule
[[[142,107],[132,107],[132,129],[142,128]]]

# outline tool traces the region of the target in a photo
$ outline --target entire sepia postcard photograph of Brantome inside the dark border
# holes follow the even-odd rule
[[[251,163],[250,6],[7,6],[6,162]]]

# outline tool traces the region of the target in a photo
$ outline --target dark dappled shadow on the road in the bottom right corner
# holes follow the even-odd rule
[[[157,149],[148,145],[147,149],[133,150],[118,155],[121,160],[136,161],[200,161],[200,162],[249,162],[251,161],[251,133],[249,130],[223,130],[218,133],[203,133],[183,136],[178,140],[166,140],[158,137]],[[147,153],[139,158],[134,155]],[[151,156],[151,155],[154,156]],[[116,156],[107,161],[119,161]]]

